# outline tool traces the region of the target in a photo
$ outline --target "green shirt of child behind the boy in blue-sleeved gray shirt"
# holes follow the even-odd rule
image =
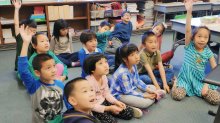
[[[49,54],[50,56],[52,56],[53,57],[53,59],[54,59],[54,61],[55,61],[55,63],[57,64],[57,63],[61,63],[61,64],[63,64],[63,62],[61,62],[57,57],[56,57],[56,55],[52,52],[52,51],[47,51],[47,54]],[[35,75],[35,72],[34,72],[34,68],[33,68],[33,65],[32,65],[32,62],[33,62],[33,59],[34,59],[34,57],[35,56],[37,56],[37,53],[36,52],[34,52],[33,54],[32,54],[32,56],[29,58],[29,69],[30,69],[30,71],[31,71],[31,73],[34,75],[34,78],[35,79],[39,79],[39,77],[37,77],[36,75]],[[64,66],[64,70],[63,70],[63,76],[66,76],[66,80],[68,79],[68,69],[67,69],[67,66],[65,65],[65,64],[63,64],[63,66]]]

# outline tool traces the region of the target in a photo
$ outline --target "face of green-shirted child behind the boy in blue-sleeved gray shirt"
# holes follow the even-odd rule
[[[50,49],[50,42],[46,35],[37,36],[37,45],[34,46],[37,53],[46,53]]]

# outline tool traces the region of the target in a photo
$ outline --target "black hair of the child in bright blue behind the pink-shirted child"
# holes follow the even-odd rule
[[[86,44],[88,41],[90,41],[92,39],[96,39],[96,34],[95,34],[95,32],[93,32],[91,30],[84,31],[80,35],[80,42],[82,44]]]

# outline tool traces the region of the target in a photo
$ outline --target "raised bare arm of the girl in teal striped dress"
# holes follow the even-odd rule
[[[192,0],[186,0],[185,1],[185,8],[187,11],[186,14],[186,32],[185,32],[185,45],[188,45],[191,41],[191,19],[192,19],[192,6],[193,1]]]

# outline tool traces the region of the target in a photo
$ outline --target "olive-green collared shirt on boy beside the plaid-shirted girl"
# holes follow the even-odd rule
[[[158,65],[158,63],[162,62],[162,58],[161,58],[159,50],[157,50],[154,53],[149,53],[149,52],[147,52],[146,49],[144,49],[141,52],[140,58],[141,58],[141,60],[140,60],[140,63],[138,64],[138,72],[139,73],[147,72],[147,70],[144,67],[145,64],[149,64],[151,69],[154,70],[156,68],[156,66]]]

